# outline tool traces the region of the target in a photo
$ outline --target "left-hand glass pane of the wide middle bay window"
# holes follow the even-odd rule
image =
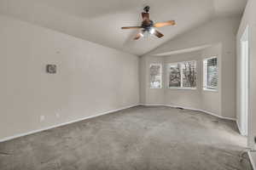
[[[169,75],[169,88],[172,87],[181,87],[181,69],[180,64],[169,65],[168,66],[168,75]]]

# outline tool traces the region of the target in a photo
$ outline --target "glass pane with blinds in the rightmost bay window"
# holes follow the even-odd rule
[[[218,60],[217,58],[207,59],[206,85],[209,89],[218,88]]]

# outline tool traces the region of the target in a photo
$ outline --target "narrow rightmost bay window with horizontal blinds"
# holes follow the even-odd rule
[[[218,58],[204,59],[204,89],[218,89]]]

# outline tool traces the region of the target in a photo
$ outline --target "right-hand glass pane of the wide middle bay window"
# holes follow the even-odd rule
[[[196,62],[183,62],[183,87],[195,88],[196,82]]]

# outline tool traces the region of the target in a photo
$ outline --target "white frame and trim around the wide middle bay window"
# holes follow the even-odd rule
[[[195,70],[196,70],[196,74],[197,74],[197,61],[196,60],[189,60],[189,61],[181,61],[181,62],[176,62],[176,63],[169,63],[167,64],[167,70],[169,69],[170,65],[177,65],[177,64],[183,64],[184,62],[195,62]],[[181,66],[181,82],[180,85],[181,87],[169,87],[169,82],[170,82],[170,77],[169,77],[169,72],[167,71],[167,88],[169,89],[177,89],[177,90],[196,90],[197,89],[197,83],[195,82],[195,88],[189,88],[189,87],[183,87],[183,65]]]

